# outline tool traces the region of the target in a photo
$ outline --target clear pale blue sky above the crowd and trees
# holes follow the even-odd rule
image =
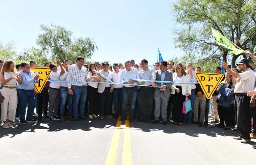
[[[180,56],[171,31],[175,0],[0,0],[0,42],[16,42],[16,51],[36,46],[40,24],[64,26],[73,37],[93,38],[99,50],[92,60],[149,64]]]

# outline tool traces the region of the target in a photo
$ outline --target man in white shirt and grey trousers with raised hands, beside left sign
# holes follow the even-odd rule
[[[58,72],[56,65],[50,64],[50,79],[51,80],[60,80],[60,76],[62,76],[65,71],[62,67],[60,60],[56,59],[56,64],[60,66],[61,70]],[[57,112],[59,110],[60,104],[60,82],[52,82],[49,87],[49,120],[52,122],[55,120],[60,120],[57,117]]]

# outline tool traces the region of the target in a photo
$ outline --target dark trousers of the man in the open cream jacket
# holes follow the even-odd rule
[[[100,113],[101,115],[108,115],[109,108],[112,100],[112,93],[110,93],[110,87],[100,93]]]

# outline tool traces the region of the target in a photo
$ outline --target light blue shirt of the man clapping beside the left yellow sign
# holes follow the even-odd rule
[[[29,71],[28,74],[22,69],[19,74],[22,74],[23,80],[22,84],[18,84],[19,89],[24,90],[33,90],[34,89],[34,83],[39,82],[39,80],[34,80],[35,73],[32,71]]]

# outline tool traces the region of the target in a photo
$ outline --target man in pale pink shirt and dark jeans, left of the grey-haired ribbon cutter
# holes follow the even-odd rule
[[[109,74],[109,79],[114,83],[120,83],[120,76],[122,70],[119,69],[118,63],[113,63],[114,72]],[[111,91],[113,91],[114,96],[114,109],[115,109],[115,116],[114,118],[118,118],[119,114],[122,112],[122,104],[123,104],[123,93],[122,93],[123,85],[113,84],[111,87]]]

